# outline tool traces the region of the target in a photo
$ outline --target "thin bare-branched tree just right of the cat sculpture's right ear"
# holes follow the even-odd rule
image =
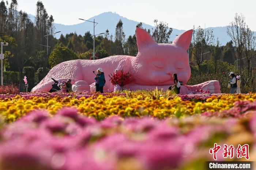
[[[198,69],[199,69],[199,75],[200,72],[200,66],[203,62],[203,55],[206,52],[206,49],[209,45],[212,45],[214,39],[213,31],[211,29],[204,30],[200,26],[195,29],[195,26],[193,26],[193,37],[192,37],[192,59],[196,60]]]

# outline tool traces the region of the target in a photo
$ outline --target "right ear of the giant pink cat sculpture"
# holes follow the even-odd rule
[[[173,44],[182,47],[184,50],[188,50],[192,40],[193,30],[188,30],[178,35],[174,40]]]

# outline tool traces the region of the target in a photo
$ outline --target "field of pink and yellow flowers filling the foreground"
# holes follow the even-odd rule
[[[0,94],[0,116],[1,170],[205,170],[214,143],[256,158],[256,93]]]

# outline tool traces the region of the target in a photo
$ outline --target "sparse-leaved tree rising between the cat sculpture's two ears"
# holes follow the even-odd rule
[[[169,43],[170,35],[173,28],[169,28],[168,24],[164,22],[158,23],[158,20],[154,20],[155,30],[152,28],[152,37],[157,43]]]

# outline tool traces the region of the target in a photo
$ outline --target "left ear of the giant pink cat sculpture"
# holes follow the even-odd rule
[[[142,50],[144,47],[157,44],[150,34],[143,28],[136,28],[137,45],[138,50]]]

